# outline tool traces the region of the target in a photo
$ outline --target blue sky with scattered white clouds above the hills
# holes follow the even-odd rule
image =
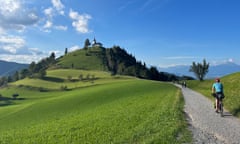
[[[0,0],[0,59],[39,61],[95,37],[148,65],[240,64],[238,0]]]

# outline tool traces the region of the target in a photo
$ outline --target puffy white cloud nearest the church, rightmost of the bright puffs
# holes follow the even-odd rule
[[[89,33],[88,20],[92,17],[88,14],[79,14],[73,10],[70,10],[69,17],[73,20],[72,26],[80,33]]]

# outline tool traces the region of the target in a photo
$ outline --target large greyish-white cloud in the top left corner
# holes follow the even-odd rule
[[[21,0],[0,0],[0,29],[23,31],[38,22],[37,13],[25,7]]]

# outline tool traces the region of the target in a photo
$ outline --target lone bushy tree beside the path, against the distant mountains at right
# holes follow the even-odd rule
[[[203,59],[203,63],[195,63],[193,62],[190,66],[189,71],[193,72],[194,75],[199,79],[200,81],[203,81],[204,77],[208,73],[209,63],[206,62],[205,59]]]

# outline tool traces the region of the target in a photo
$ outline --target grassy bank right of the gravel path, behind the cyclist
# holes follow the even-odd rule
[[[214,98],[211,96],[213,82],[214,80],[189,81],[188,86],[213,100]],[[224,85],[225,93],[224,107],[233,115],[240,117],[240,73],[224,76],[221,78],[221,82]]]

